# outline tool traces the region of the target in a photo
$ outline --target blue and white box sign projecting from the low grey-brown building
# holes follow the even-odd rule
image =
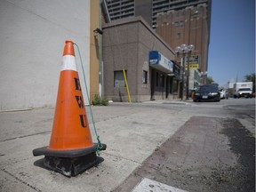
[[[173,62],[165,58],[161,52],[149,52],[149,65],[165,73],[172,73],[173,71]]]

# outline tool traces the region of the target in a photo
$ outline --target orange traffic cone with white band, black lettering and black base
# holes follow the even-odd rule
[[[63,52],[50,145],[33,150],[34,156],[44,155],[44,166],[66,176],[84,172],[97,158],[97,144],[92,142],[73,44],[66,41]],[[100,150],[107,148],[101,145]]]

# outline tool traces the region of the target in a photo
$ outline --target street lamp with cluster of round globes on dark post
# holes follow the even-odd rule
[[[189,91],[189,57],[191,56],[191,52],[195,49],[194,44],[181,44],[180,46],[177,46],[175,48],[175,52],[177,53],[177,56],[179,57],[180,52],[182,52],[182,89],[181,89],[181,100],[183,100],[183,94],[184,94],[184,73],[185,73],[185,57],[186,53],[188,53],[188,73],[187,73],[187,97],[186,100],[188,100],[188,91]]]

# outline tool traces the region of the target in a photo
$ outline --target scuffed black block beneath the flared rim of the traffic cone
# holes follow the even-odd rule
[[[44,166],[61,174],[71,177],[84,172],[96,163],[97,156],[93,152],[76,158],[62,158],[56,156],[44,156]]]

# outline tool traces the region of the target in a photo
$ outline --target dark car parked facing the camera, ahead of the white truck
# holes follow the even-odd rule
[[[212,84],[201,85],[197,88],[193,101],[212,100],[220,101],[218,86]]]

